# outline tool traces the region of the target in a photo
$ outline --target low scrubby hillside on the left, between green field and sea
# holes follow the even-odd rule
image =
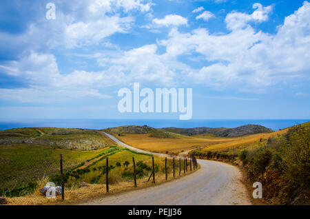
[[[21,144],[81,150],[100,149],[114,145],[109,138],[96,130],[33,127],[0,131],[0,145]]]

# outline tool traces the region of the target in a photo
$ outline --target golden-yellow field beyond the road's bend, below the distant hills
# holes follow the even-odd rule
[[[123,134],[122,136],[115,136],[128,145],[145,151],[180,153],[195,148],[225,150],[242,147],[256,141],[259,142],[260,138],[266,139],[277,134],[284,134],[285,132],[287,132],[287,129],[237,138],[221,138],[209,134],[200,134],[187,138],[150,138],[149,134]]]

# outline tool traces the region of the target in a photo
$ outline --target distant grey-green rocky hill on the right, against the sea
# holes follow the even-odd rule
[[[210,128],[210,127],[195,127],[195,128],[163,128],[167,132],[183,134],[185,136],[194,136],[197,134],[214,134],[218,137],[239,137],[247,134],[257,134],[262,132],[273,132],[271,129],[262,125],[242,125],[235,128]]]

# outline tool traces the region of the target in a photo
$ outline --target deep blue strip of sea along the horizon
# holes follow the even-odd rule
[[[192,119],[189,121],[180,120],[156,120],[156,119],[30,119],[30,120],[5,120],[0,121],[0,129],[13,129],[21,127],[66,127],[81,129],[105,129],[122,125],[148,125],[150,127],[239,127],[241,125],[254,124],[262,125],[278,131],[309,122],[310,119],[244,119],[244,120],[220,120],[220,119]]]

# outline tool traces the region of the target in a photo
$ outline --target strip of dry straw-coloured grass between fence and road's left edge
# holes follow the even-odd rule
[[[118,194],[123,191],[132,191],[136,189],[142,189],[145,187],[151,187],[154,185],[160,185],[161,183],[169,182],[171,180],[186,176],[188,174],[194,173],[196,170],[187,171],[186,174],[181,172],[181,175],[178,176],[178,171],[176,171],[176,177],[173,177],[173,174],[168,174],[168,180],[165,180],[165,175],[156,176],[156,184],[152,183],[152,180],[147,182],[147,178],[137,179],[137,187],[134,187],[133,182],[120,182],[114,185],[109,185],[109,193],[105,192],[105,185],[91,185],[87,184],[86,187],[79,188],[78,186],[73,187],[70,190],[65,190],[65,200],[61,200],[61,196],[57,196],[55,199],[45,198],[39,191],[37,191],[32,196],[17,197],[17,198],[8,198],[8,205],[76,205],[81,204],[85,201],[92,200],[94,198],[101,198],[104,196],[110,196],[112,194]],[[42,180],[42,185],[44,185],[45,180]]]

